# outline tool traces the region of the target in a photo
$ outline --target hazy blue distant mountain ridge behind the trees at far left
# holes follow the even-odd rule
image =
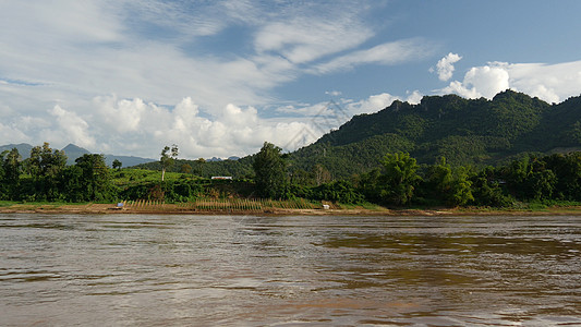
[[[16,148],[19,153],[21,154],[22,158],[26,159],[31,157],[31,149],[34,146],[26,144],[26,143],[9,144],[9,145],[0,146],[0,153],[2,153],[3,150],[11,150],[13,148]],[[90,154],[89,150],[82,148],[80,146],[76,146],[74,144],[66,145],[65,147],[62,148],[62,150],[66,155],[66,165],[74,165],[75,160],[78,157]],[[104,156],[105,156],[105,162],[108,166],[112,166],[112,162],[116,159],[121,161],[121,164],[123,164],[123,167],[132,167],[132,166],[156,161],[155,159],[133,157],[133,156],[116,156],[116,155],[104,155]]]

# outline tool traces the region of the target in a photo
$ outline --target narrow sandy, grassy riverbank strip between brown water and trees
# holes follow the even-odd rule
[[[553,206],[536,209],[503,208],[401,208],[390,209],[380,206],[291,208],[291,207],[193,207],[184,204],[3,204],[3,214],[157,214],[157,215],[275,215],[275,216],[581,216],[581,206]]]

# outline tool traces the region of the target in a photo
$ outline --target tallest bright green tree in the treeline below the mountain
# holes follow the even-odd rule
[[[385,173],[379,178],[380,197],[396,205],[408,204],[420,182],[417,162],[408,153],[387,154],[382,161]]]

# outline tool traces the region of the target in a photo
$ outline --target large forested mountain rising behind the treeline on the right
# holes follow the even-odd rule
[[[549,105],[506,90],[492,100],[445,95],[426,96],[417,105],[394,101],[353,117],[289,154],[287,161],[293,174],[313,173],[316,167],[341,179],[379,167],[385,154],[396,152],[410,153],[419,164],[446,157],[452,166],[495,166],[524,153],[569,150],[581,150],[581,96]],[[184,165],[195,166],[183,161],[173,170]],[[252,173],[251,166],[251,157],[205,162],[203,174],[241,178]]]

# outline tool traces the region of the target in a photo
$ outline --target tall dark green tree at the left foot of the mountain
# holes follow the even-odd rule
[[[280,147],[265,142],[256,154],[252,168],[256,174],[256,187],[262,196],[280,198],[287,195],[289,182],[281,152]]]

